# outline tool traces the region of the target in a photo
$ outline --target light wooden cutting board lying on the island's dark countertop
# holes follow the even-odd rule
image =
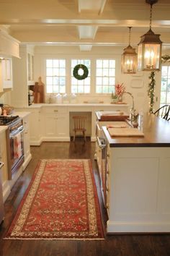
[[[136,128],[108,128],[111,137],[144,137],[143,132]]]

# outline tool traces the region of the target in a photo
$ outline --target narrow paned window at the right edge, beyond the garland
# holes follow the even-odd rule
[[[161,102],[160,105],[170,104],[170,66],[161,69]]]

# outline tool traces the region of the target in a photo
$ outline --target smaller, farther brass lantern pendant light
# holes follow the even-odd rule
[[[130,30],[129,28],[129,45],[123,50],[122,54],[122,72],[124,74],[135,74],[137,69],[137,54],[135,48],[130,46]]]

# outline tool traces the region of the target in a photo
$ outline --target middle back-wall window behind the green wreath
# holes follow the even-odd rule
[[[77,80],[73,77],[73,68],[78,64],[84,64],[88,70],[89,74],[84,80]],[[90,93],[90,69],[91,61],[89,59],[72,59],[71,60],[71,93]]]

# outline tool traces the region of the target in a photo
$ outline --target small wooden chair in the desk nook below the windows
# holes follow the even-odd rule
[[[82,132],[84,136],[84,141],[86,141],[85,120],[86,116],[73,116],[73,141],[75,141],[76,132]]]

